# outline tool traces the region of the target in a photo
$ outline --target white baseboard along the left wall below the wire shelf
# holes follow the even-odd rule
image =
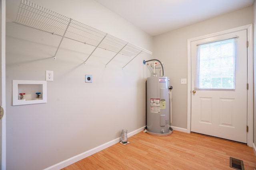
[[[144,128],[145,128],[145,126],[139,128],[139,129],[136,129],[135,131],[132,131],[132,132],[128,133],[127,137],[129,138],[129,137],[131,137],[131,136],[133,136],[133,135],[135,135],[137,133],[140,133],[141,131],[144,131]],[[54,164],[54,165],[52,165],[52,166],[50,166],[48,168],[45,168],[44,170],[60,170],[62,168],[65,168],[66,166],[74,164],[75,162],[77,162],[77,161],[79,161],[81,159],[84,159],[84,158],[86,158],[86,157],[88,157],[88,156],[90,156],[92,154],[95,154],[96,152],[99,152],[100,150],[106,149],[106,148],[108,148],[108,147],[110,147],[110,146],[112,146],[112,145],[114,145],[114,144],[116,144],[118,142],[120,142],[120,137],[118,137],[118,138],[116,138],[116,139],[114,139],[112,141],[109,141],[107,143],[104,143],[104,144],[102,144],[102,145],[100,145],[98,147],[95,147],[93,149],[87,150],[86,152],[83,152],[81,154],[73,156],[73,157],[71,157],[69,159],[66,159],[66,160],[64,160],[62,162],[59,162],[58,164]]]

